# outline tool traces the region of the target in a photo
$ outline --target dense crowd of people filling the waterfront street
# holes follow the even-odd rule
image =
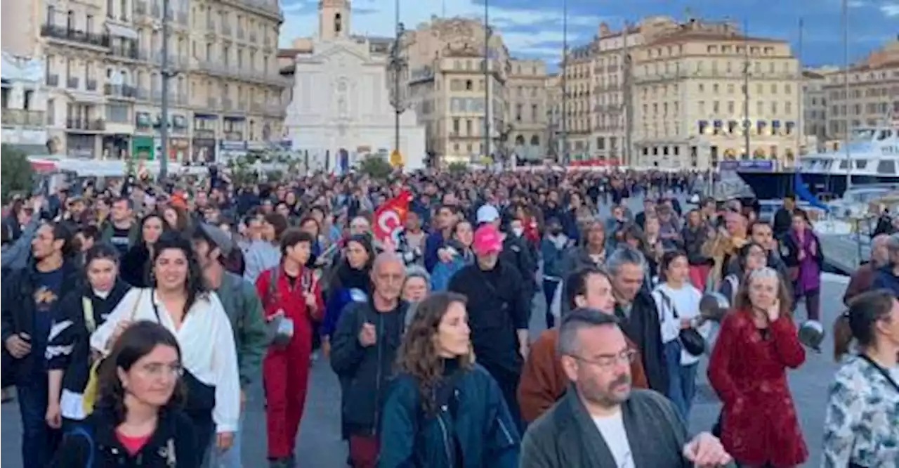
[[[773,222],[752,202],[685,206],[696,179],[215,172],[16,199],[0,387],[23,466],[244,466],[258,383],[268,460],[249,466],[302,466],[325,361],[354,468],[804,464],[787,375],[806,358],[797,304],[820,317],[820,242],[791,197]],[[378,235],[379,207],[405,196]],[[828,467],[899,465],[899,237],[874,246],[834,328]],[[706,293],[723,319],[700,312]],[[704,359],[723,403],[708,432],[688,428]]]

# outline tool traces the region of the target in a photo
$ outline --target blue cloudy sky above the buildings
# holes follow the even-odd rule
[[[514,57],[542,58],[551,66],[561,58],[565,38],[563,0],[352,0],[352,32],[392,36],[399,2],[400,21],[414,28],[432,15],[484,19],[503,35]],[[280,0],[285,22],[280,45],[311,36],[318,27],[318,0]],[[849,55],[855,62],[894,40],[899,0],[846,0]],[[843,58],[842,0],[567,0],[569,47],[585,44],[600,23],[619,29],[651,15],[690,16],[740,23],[752,36],[789,40],[804,65],[840,66]],[[802,23],[802,28],[799,24]],[[801,33],[800,33],[801,30]],[[801,38],[801,40],[800,40]],[[800,47],[801,42],[801,47]]]

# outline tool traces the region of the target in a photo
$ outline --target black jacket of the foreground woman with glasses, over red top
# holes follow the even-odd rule
[[[63,438],[50,468],[199,468],[204,455],[197,449],[191,419],[180,410],[163,410],[156,431],[135,455],[129,455],[116,437],[116,423],[109,410],[98,408],[86,428]]]

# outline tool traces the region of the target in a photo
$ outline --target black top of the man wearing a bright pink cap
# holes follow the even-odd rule
[[[491,371],[498,366],[520,373],[517,330],[528,329],[530,296],[518,268],[502,256],[491,272],[477,264],[464,266],[449,279],[447,289],[468,298],[468,326],[478,363]]]

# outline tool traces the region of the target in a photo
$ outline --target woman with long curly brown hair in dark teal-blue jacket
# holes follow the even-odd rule
[[[384,405],[378,467],[518,466],[521,437],[499,386],[475,364],[465,304],[456,293],[419,303]]]

